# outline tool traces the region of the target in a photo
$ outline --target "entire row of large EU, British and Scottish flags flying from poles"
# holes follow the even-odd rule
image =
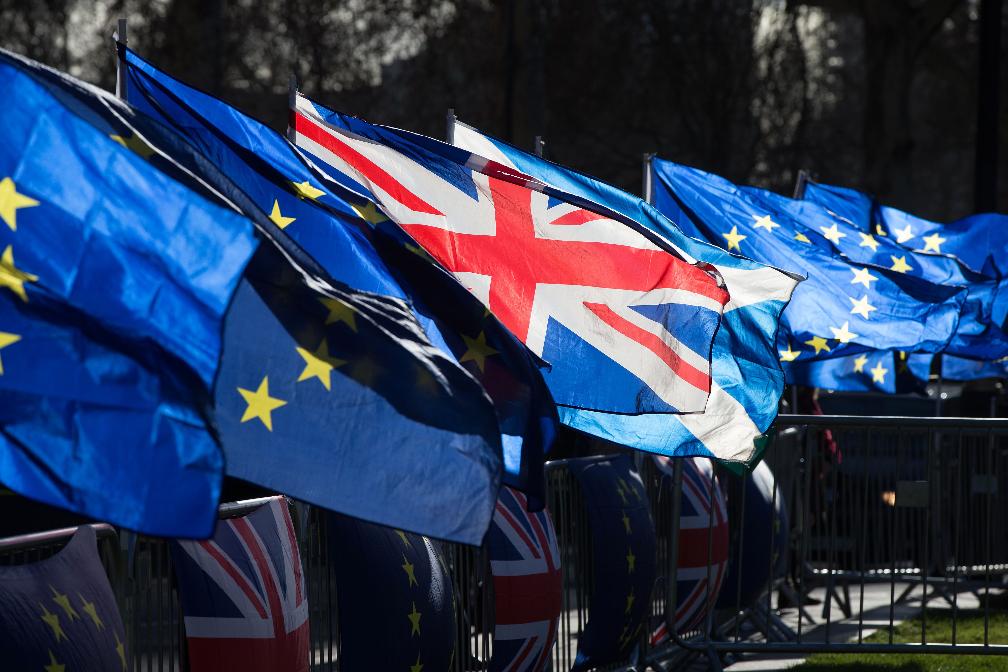
[[[652,205],[299,92],[283,135],[117,48],[128,102],[0,52],[0,482],[33,499],[200,539],[228,475],[480,544],[502,486],[542,509],[561,423],[746,462],[785,380],[1008,356],[994,226],[964,257],[969,227],[658,159]]]

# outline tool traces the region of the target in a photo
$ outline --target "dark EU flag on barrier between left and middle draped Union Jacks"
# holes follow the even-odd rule
[[[339,514],[326,526],[340,590],[340,670],[453,669],[455,592],[440,544]]]

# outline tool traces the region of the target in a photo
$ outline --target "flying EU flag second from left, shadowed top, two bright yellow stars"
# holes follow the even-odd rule
[[[230,209],[218,209],[225,222],[235,211],[251,218],[264,241],[228,306],[213,407],[203,409],[223,444],[227,473],[361,518],[480,543],[503,471],[496,413],[479,384],[430,343],[409,305],[334,279],[164,125],[73,78],[26,59],[23,68],[122,140],[113,147]],[[217,328],[220,343],[220,322]],[[199,447],[177,431],[172,437],[179,450]],[[220,462],[217,468],[219,480]],[[169,472],[150,473],[158,479],[121,471],[153,493],[171,485]],[[208,536],[216,500],[215,492],[199,534],[173,536]],[[193,515],[177,502],[158,513]]]

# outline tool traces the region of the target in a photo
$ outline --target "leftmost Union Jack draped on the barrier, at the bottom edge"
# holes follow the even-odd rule
[[[308,669],[304,576],[284,498],[171,548],[193,670]]]

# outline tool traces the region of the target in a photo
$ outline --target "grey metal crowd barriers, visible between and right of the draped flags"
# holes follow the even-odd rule
[[[765,587],[752,603],[741,602],[740,590],[734,608],[718,612],[710,609],[715,595],[708,592],[707,618],[699,630],[674,633],[668,628],[670,639],[657,647],[650,646],[650,633],[663,621],[674,623],[674,609],[668,607],[675,604],[677,584],[669,577],[678,570],[682,463],[674,460],[674,477],[669,478],[650,456],[637,453],[654,516],[661,575],[636,651],[607,670],[685,669],[699,657],[720,670],[727,657],[745,653],[1008,655],[1008,646],[991,645],[986,638],[980,645],[957,642],[955,625],[963,600],[970,599],[984,609],[986,631],[990,606],[984,595],[991,588],[1008,594],[1008,500],[998,490],[998,476],[1008,467],[1008,420],[784,415],[777,426],[764,459],[775,474],[773,502],[782,502],[788,513],[784,570],[775,574],[771,568],[759,579]],[[561,615],[549,660],[553,672],[573,665],[593,599],[591,527],[568,464],[558,460],[546,465],[547,507],[562,576]],[[725,469],[718,478],[723,488],[735,479]],[[745,536],[744,506],[739,506],[745,489],[753,487],[750,481],[737,480],[725,488],[733,538],[750,538]],[[733,503],[733,497],[739,502]],[[222,505],[220,515],[246,515],[264,502]],[[316,507],[291,506],[309,606],[310,670],[336,672],[339,595],[326,519]],[[776,522],[774,515],[765,532],[771,533]],[[105,524],[95,528],[123,615],[130,669],[186,672],[184,625],[167,541],[117,533]],[[0,540],[0,565],[49,557],[75,529]],[[457,604],[453,672],[484,672],[493,655],[489,558],[485,548],[443,547]],[[710,554],[708,558],[710,575]],[[741,583],[742,563],[737,571]],[[813,609],[809,602],[816,599],[821,606]],[[926,640],[929,602],[952,610],[953,642]],[[893,643],[893,627],[916,614],[924,619],[920,642]],[[864,641],[885,629],[889,643]]]

